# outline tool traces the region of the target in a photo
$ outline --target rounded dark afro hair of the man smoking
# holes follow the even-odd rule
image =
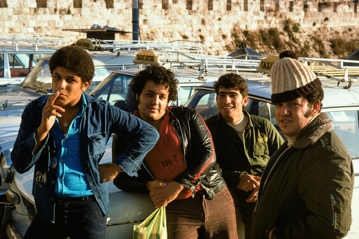
[[[94,77],[94,61],[86,50],[79,46],[68,45],[61,47],[51,56],[49,68],[51,75],[57,67],[73,71],[81,82],[91,81]]]

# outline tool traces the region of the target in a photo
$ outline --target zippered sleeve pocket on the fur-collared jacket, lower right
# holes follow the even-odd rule
[[[333,194],[330,195],[330,199],[332,202],[332,225],[334,229],[348,231],[351,224],[350,202],[339,201]]]

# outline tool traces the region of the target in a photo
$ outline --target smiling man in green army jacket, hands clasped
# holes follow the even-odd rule
[[[284,142],[272,123],[250,115],[248,87],[237,74],[226,74],[214,83],[219,113],[206,124],[212,134],[217,162],[232,196],[239,203],[245,238],[251,236],[252,212],[262,171],[270,156]]]

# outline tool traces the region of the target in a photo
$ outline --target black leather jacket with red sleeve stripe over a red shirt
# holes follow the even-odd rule
[[[173,181],[192,192],[201,185],[206,197],[212,199],[226,183],[216,163],[210,133],[202,117],[195,110],[187,107],[168,107],[168,111],[169,122],[177,133],[187,165],[187,169]],[[117,158],[126,145],[126,139],[119,139],[115,135],[112,141],[112,158]],[[138,170],[138,177],[120,173],[113,183],[124,191],[148,193],[146,183],[153,180],[154,177],[143,162]]]

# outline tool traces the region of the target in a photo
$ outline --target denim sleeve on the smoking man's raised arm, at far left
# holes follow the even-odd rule
[[[14,168],[19,173],[28,171],[39,159],[42,148],[34,154],[36,146],[35,133],[41,122],[42,110],[37,109],[35,103],[28,104],[22,115],[19,132],[11,151],[11,160]],[[49,136],[44,143],[46,145]]]

